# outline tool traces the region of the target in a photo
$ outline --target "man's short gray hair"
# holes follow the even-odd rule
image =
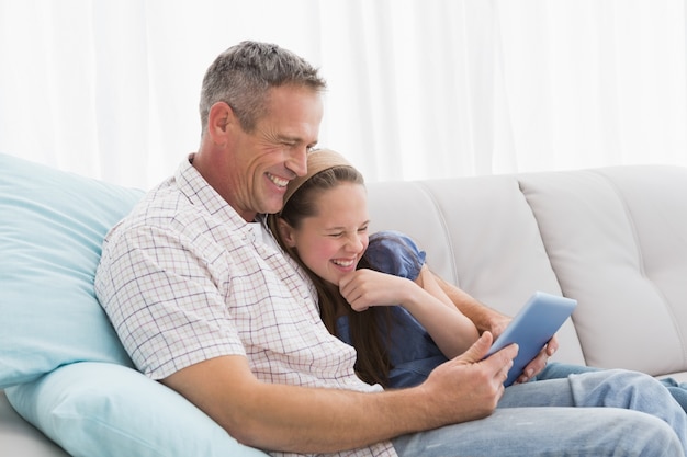
[[[207,128],[210,108],[227,103],[241,128],[252,132],[266,113],[269,90],[284,84],[324,91],[326,81],[304,58],[270,43],[241,42],[222,53],[207,68],[201,91],[202,132]]]

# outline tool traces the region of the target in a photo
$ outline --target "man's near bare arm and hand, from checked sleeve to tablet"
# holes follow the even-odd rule
[[[503,395],[516,346],[482,359],[492,335],[441,365],[423,385],[363,393],[261,382],[243,356],[212,358],[162,382],[249,446],[328,453],[489,415]]]

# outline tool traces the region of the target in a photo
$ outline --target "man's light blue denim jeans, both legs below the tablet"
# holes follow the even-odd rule
[[[650,376],[599,370],[508,387],[491,416],[401,436],[402,457],[684,456],[687,415]]]

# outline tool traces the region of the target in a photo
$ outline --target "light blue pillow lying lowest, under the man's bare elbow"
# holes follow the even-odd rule
[[[7,389],[24,419],[75,457],[266,457],[179,393],[113,364],[78,363]]]

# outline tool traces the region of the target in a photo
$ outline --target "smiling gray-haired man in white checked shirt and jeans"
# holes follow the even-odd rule
[[[651,378],[612,372],[504,395],[517,347],[482,361],[489,332],[417,388],[382,391],[356,377],[353,350],[327,332],[312,285],[260,225],[306,172],[325,85],[306,61],[270,44],[240,43],[209,68],[199,151],[109,233],[95,278],[138,369],[239,442],[275,455],[684,455],[684,413],[654,404],[671,399]],[[503,324],[463,298],[473,320]],[[630,403],[661,419],[518,408]]]

